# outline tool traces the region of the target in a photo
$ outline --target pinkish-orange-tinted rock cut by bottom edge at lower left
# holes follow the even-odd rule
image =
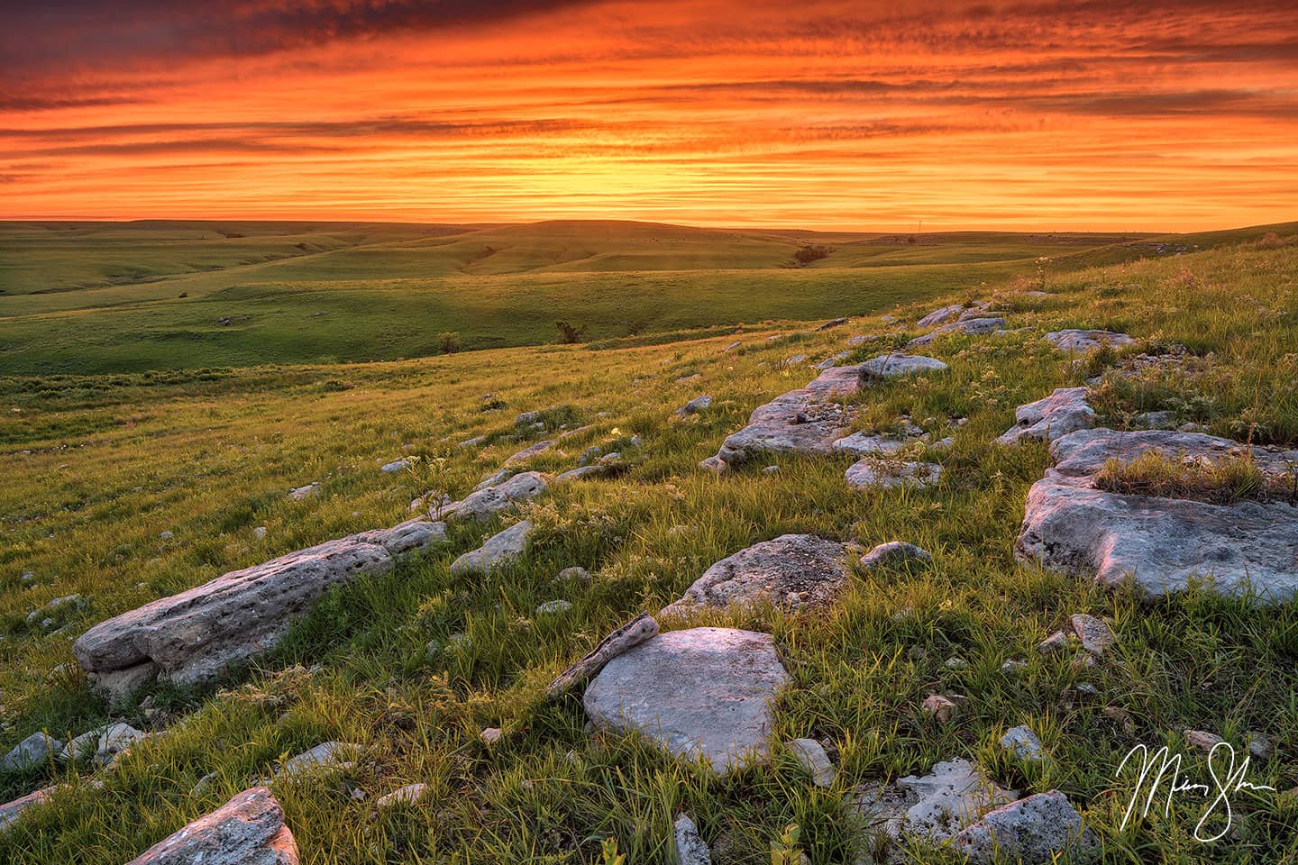
[[[284,811],[265,787],[239,794],[127,865],[297,865]]]

